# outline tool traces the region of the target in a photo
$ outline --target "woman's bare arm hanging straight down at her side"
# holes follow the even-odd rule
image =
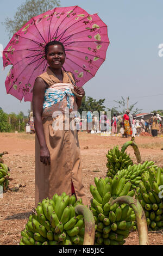
[[[50,164],[50,153],[45,141],[42,124],[43,99],[46,83],[38,77],[33,88],[33,117],[36,136],[40,143],[40,161],[45,165]]]

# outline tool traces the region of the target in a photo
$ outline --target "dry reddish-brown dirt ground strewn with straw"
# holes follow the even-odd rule
[[[129,138],[118,136],[101,136],[79,132],[79,142],[82,155],[83,184],[87,196],[92,198],[89,191],[90,184],[94,184],[94,177],[105,178],[106,153],[118,145],[119,147]],[[155,161],[163,166],[163,137],[136,137],[135,142],[139,145],[142,161]],[[0,133],[0,151],[8,151],[4,155],[4,163],[10,167],[9,187],[21,184],[17,192],[7,191],[0,198],[0,245],[18,245],[21,230],[24,229],[27,219],[34,207],[34,161],[35,135],[26,133]],[[0,152],[0,153],[1,153]],[[127,149],[131,159],[136,163],[134,151]],[[163,245],[163,230],[150,231],[149,244]],[[139,245],[137,231],[130,233],[125,245]]]

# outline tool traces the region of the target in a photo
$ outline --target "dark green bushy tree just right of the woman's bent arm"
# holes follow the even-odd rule
[[[82,111],[105,111],[105,106],[103,105],[105,99],[95,100],[92,97],[84,96],[82,99],[82,105],[79,108],[79,113],[82,114]]]

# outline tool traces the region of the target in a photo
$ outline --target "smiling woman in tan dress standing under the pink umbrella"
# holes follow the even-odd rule
[[[76,97],[71,89],[82,96],[83,88],[73,88],[71,72],[62,71],[65,48],[59,41],[51,41],[45,47],[48,67],[36,78],[33,89],[33,114],[35,125],[35,204],[55,193],[76,194],[87,204],[82,184],[82,168],[77,130],[72,111],[77,111],[82,97]],[[67,112],[65,112],[65,109]],[[67,125],[68,124],[68,125]],[[61,128],[63,125],[63,129]]]

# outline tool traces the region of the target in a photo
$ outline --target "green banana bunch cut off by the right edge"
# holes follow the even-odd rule
[[[162,187],[161,187],[162,186]],[[143,173],[136,188],[136,197],[145,210],[149,230],[163,227],[163,172],[160,167],[151,167]]]

